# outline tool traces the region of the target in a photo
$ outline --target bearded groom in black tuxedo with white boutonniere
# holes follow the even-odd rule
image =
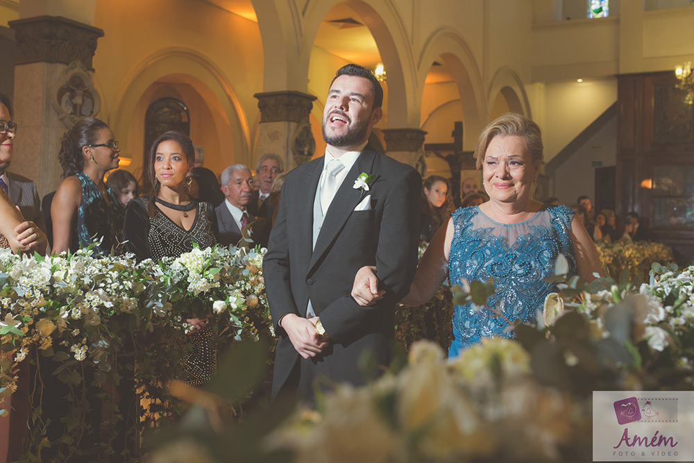
[[[314,379],[362,385],[359,360],[391,358],[395,305],[417,264],[421,176],[367,144],[382,116],[371,71],[341,67],[323,112],[322,158],[287,174],[263,263],[278,335],[272,397],[312,401]],[[357,183],[360,174],[369,181]],[[378,268],[384,297],[362,307],[350,296],[357,270]]]

